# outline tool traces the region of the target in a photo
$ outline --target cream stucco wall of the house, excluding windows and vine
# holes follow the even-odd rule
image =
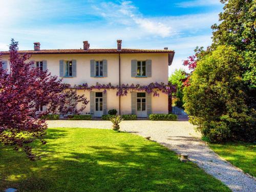
[[[3,55],[3,60],[8,60],[8,55]],[[76,77],[64,77],[63,82],[70,83],[72,86],[88,83],[93,86],[96,82],[113,86],[119,84],[119,54],[35,54],[30,60],[47,61],[47,69],[52,75],[59,76],[59,60],[76,60]],[[107,60],[108,73],[106,77],[91,77],[90,60]],[[151,77],[131,77],[131,60],[152,60]],[[168,54],[167,53],[136,53],[120,54],[120,80],[121,84],[140,84],[146,86],[152,82],[168,83]],[[8,61],[9,68],[9,61]],[[104,90],[92,90],[94,92],[103,92]],[[119,96],[116,96],[117,90],[107,90],[106,106],[107,111],[116,109],[119,111]],[[90,91],[78,90],[77,94],[84,94],[90,100]],[[153,95],[153,94],[152,94]],[[127,96],[121,96],[120,112],[122,114],[132,114],[131,93]],[[80,108],[81,103],[78,103]],[[159,92],[159,97],[152,96],[152,113],[168,113],[168,96]],[[82,114],[90,114],[90,103]]]

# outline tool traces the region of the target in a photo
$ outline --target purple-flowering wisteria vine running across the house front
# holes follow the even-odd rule
[[[122,84],[121,87],[119,86],[112,86],[111,83],[108,84],[100,84],[96,83],[94,86],[88,86],[88,83],[83,83],[82,85],[79,86],[74,86],[74,89],[77,90],[90,90],[92,91],[93,89],[104,89],[104,93],[106,90],[110,89],[117,89],[116,95],[117,96],[126,96],[129,92],[133,91],[145,91],[146,93],[153,93],[153,96],[158,96],[159,97],[159,91],[161,91],[164,94],[171,94],[176,91],[176,87],[173,86],[172,84],[164,84],[163,82],[158,83],[158,82],[152,82],[148,84],[147,86],[141,86],[140,84]]]

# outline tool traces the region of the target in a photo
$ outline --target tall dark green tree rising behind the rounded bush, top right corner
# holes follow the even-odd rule
[[[219,45],[236,47],[243,57],[242,78],[249,88],[256,88],[255,0],[222,0],[224,11],[219,14],[220,24],[213,25],[212,48]]]

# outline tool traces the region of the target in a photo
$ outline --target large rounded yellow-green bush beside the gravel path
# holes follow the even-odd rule
[[[189,121],[211,142],[255,141],[255,122],[246,106],[241,58],[236,48],[219,46],[197,62],[184,88]]]

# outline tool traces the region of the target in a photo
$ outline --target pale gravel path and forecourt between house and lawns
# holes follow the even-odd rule
[[[177,154],[186,153],[191,161],[205,172],[225,183],[232,191],[256,191],[256,179],[244,174],[227,161],[221,159],[203,142],[185,116],[180,121],[123,121],[122,131],[150,136],[151,140],[170,148]],[[110,121],[101,120],[49,120],[49,127],[87,127],[110,129]]]

